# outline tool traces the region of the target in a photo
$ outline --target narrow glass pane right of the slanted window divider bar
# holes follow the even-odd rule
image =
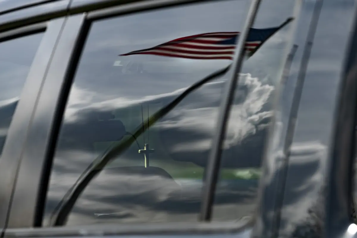
[[[272,102],[292,47],[296,3],[262,1],[248,34],[246,44],[250,44],[249,35],[256,29],[280,26],[253,56],[243,62],[223,143],[213,206],[214,221],[247,221],[253,215],[263,150],[272,118]]]

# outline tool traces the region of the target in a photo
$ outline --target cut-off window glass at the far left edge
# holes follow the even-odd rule
[[[0,155],[43,34],[0,42]]]

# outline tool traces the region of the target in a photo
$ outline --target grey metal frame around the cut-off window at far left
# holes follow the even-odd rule
[[[5,11],[0,14],[0,44],[42,33],[41,42],[31,63],[22,88],[20,100],[16,106],[12,121],[7,132],[4,148],[0,158],[0,229],[6,229],[10,206],[13,202],[18,169],[23,156],[28,128],[31,126],[32,116],[42,89],[42,83],[47,74],[53,56],[53,49],[57,44],[64,24],[64,17],[70,0],[59,0],[42,6],[24,6],[19,11]],[[50,11],[46,11],[48,6]],[[56,18],[56,19],[54,19]],[[51,20],[54,19],[54,20]]]

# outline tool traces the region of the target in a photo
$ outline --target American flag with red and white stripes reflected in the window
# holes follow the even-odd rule
[[[278,27],[266,29],[251,28],[245,43],[247,55],[252,56],[269,37],[291,20],[291,17],[288,18]],[[186,36],[148,49],[131,51],[119,56],[159,55],[187,59],[232,60],[239,35],[240,32],[211,32]]]

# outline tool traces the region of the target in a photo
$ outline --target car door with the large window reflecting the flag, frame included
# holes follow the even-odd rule
[[[249,236],[301,7],[72,1],[5,235]],[[116,73],[126,59],[159,66]]]

